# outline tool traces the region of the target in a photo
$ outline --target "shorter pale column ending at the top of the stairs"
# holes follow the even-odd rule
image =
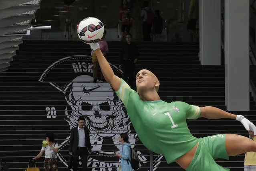
[[[221,65],[221,0],[200,0],[200,61]]]

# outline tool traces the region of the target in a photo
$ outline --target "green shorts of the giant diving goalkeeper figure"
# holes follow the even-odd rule
[[[226,134],[212,135],[199,139],[196,153],[186,171],[229,171],[214,159],[228,159],[225,146]]]

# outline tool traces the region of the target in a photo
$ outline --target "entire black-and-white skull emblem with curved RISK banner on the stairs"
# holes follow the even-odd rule
[[[119,77],[123,72],[110,64]],[[62,80],[60,80],[60,78]],[[64,80],[63,80],[64,79]],[[89,128],[92,154],[89,155],[88,168],[92,171],[117,171],[119,158],[113,151],[119,151],[118,141],[121,133],[128,133],[131,147],[145,148],[138,140],[137,134],[129,120],[123,102],[113,91],[109,83],[93,83],[93,63],[91,56],[70,56],[62,58],[49,66],[39,79],[60,91],[65,99],[65,121],[69,127],[77,127],[77,119],[85,117],[85,125]],[[50,100],[50,99],[49,99]],[[58,106],[55,107],[58,110]],[[55,116],[56,117],[56,116]],[[69,138],[59,145],[59,159],[68,166]],[[149,156],[145,150],[137,150],[140,170],[148,170]],[[163,156],[155,157],[154,166]],[[81,164],[81,163],[80,163]],[[156,168],[155,168],[156,169]]]

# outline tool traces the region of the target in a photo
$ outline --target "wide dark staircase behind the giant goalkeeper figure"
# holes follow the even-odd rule
[[[108,44],[108,61],[117,66],[119,64],[121,43],[108,42]],[[159,78],[161,99],[168,102],[184,101],[199,106],[210,105],[226,110],[224,66],[200,65],[198,43],[137,42],[137,45],[140,55],[134,74],[141,69],[151,70]],[[56,134],[57,143],[67,143],[66,139],[69,136],[70,126],[75,123],[67,122],[71,116],[69,110],[73,109],[69,107],[70,104],[67,105],[67,98],[76,99],[76,95],[70,94],[71,90],[73,93],[76,91],[65,89],[65,94],[60,91],[64,91],[63,87],[67,86],[67,80],[72,80],[74,74],[77,74],[75,75],[77,77],[80,72],[87,72],[85,70],[90,69],[87,65],[87,62],[91,61],[90,58],[84,60],[85,57],[83,57],[83,61],[78,59],[82,58],[83,55],[90,55],[90,53],[90,47],[82,42],[24,41],[20,45],[20,50],[16,51],[16,56],[14,56],[8,71],[0,73],[0,136],[3,137],[0,140],[0,153],[6,158],[11,170],[24,169],[27,166],[28,159],[39,153],[46,132]],[[60,59],[75,55],[77,58],[72,58],[69,64],[67,63],[68,58],[60,62]],[[85,64],[82,64],[82,62],[85,62]],[[47,70],[50,66],[52,69]],[[73,70],[74,66],[77,68],[75,72]],[[122,76],[114,66],[113,68],[119,76]],[[39,79],[44,74],[47,74],[47,78],[43,81],[41,79],[40,82]],[[80,85],[85,83],[85,87],[93,86],[93,83],[89,81],[78,83]],[[52,85],[58,85],[57,89],[56,86]],[[107,85],[104,84],[104,86]],[[73,87],[75,87],[75,84],[73,84]],[[102,91],[102,93],[104,94],[105,91]],[[81,96],[80,100],[85,101],[84,98],[89,97]],[[112,99],[110,98],[110,100]],[[113,99],[113,101],[115,100]],[[127,129],[124,126],[125,124],[118,122],[120,118],[116,119],[117,122],[112,123],[111,121],[115,118],[102,115],[104,112],[111,111],[111,106],[116,106],[116,103],[102,105],[103,108],[101,109],[94,109],[94,106],[88,103],[90,101],[83,104],[86,108],[83,108],[83,110],[93,111],[90,115],[94,115],[94,117],[88,117],[87,126],[91,135],[94,136],[91,141],[95,143],[95,151],[89,159],[89,168],[99,170],[99,167],[113,167],[113,170],[115,170],[115,163],[118,163],[118,158],[113,157],[111,152],[117,150],[118,146],[116,145],[117,142],[113,140],[116,137],[111,130],[116,130],[116,132],[120,130],[117,127],[108,130],[107,125],[123,125],[124,128],[120,129],[129,130],[131,135],[135,134],[135,131],[132,126]],[[250,97],[250,105],[252,111],[232,111],[232,113],[243,114],[255,123],[253,113],[256,106],[252,96]],[[91,108],[87,109],[87,107]],[[104,107],[110,107],[111,109],[105,109]],[[113,111],[125,112],[125,109],[113,108]],[[106,132],[99,126],[101,121],[106,121],[106,123],[101,123],[102,127],[106,126],[104,128]],[[210,120],[200,118],[188,120],[187,124],[191,133],[198,138],[219,133],[236,133],[248,136],[242,124],[230,119]],[[144,157],[141,158],[143,162],[141,162],[140,170],[149,170],[149,151],[136,136],[131,138],[132,142],[133,140],[137,151]],[[59,169],[61,170],[67,168],[66,161],[69,157],[67,147],[68,145],[62,145],[59,153],[61,155]],[[101,151],[104,151],[104,153]],[[102,154],[104,156],[100,156]],[[157,170],[183,170],[176,163],[167,165],[165,158],[157,154],[154,154],[153,159],[153,165],[157,167]],[[42,167],[42,161],[43,159],[38,160],[39,167]],[[217,159],[218,164],[235,171],[243,170],[243,161],[244,155],[230,157],[229,161]]]

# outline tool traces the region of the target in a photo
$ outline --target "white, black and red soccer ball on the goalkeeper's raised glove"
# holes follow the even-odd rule
[[[95,44],[101,41],[104,33],[102,22],[94,17],[83,19],[77,25],[78,37],[86,44]]]

